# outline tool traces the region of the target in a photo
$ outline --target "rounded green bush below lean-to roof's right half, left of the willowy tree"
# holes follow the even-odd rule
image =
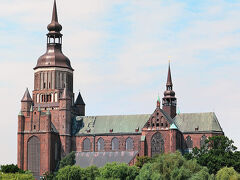
[[[99,172],[100,177],[105,179],[134,180],[138,175],[138,168],[114,162],[99,168]]]

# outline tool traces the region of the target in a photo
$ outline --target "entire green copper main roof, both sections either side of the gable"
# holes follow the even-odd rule
[[[222,132],[215,113],[181,113],[173,120],[163,112],[171,124],[170,129],[186,132]],[[73,119],[72,133],[86,134],[141,133],[151,114],[112,115],[112,116],[76,116]],[[137,130],[137,131],[136,131]],[[142,137],[143,138],[143,137]]]

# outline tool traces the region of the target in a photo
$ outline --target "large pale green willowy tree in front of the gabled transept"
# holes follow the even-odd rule
[[[143,165],[136,180],[208,180],[211,176],[207,168],[200,166],[196,160],[186,160],[180,152],[162,154],[153,158],[152,163]]]

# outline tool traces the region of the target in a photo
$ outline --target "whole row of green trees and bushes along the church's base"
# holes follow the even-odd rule
[[[225,136],[215,136],[207,139],[205,146],[201,149],[194,148],[192,153],[184,156],[180,152],[176,152],[161,154],[153,158],[138,157],[134,166],[108,163],[101,168],[75,166],[75,153],[70,153],[61,160],[59,170],[51,174],[46,173],[44,179],[240,180],[240,152],[236,150],[232,140]],[[3,171],[4,168],[2,168]],[[17,172],[18,175],[19,173]],[[7,179],[6,175],[7,172],[4,172],[5,179]],[[13,176],[13,173],[10,175]],[[0,175],[0,179],[4,179],[4,176]],[[17,178],[13,177],[12,179]],[[32,179],[32,177],[29,176],[28,179]]]

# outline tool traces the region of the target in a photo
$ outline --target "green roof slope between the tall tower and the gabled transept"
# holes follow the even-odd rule
[[[140,133],[150,114],[113,115],[113,116],[77,116],[74,121],[80,127],[75,135],[106,133]],[[137,132],[136,132],[137,130]]]

